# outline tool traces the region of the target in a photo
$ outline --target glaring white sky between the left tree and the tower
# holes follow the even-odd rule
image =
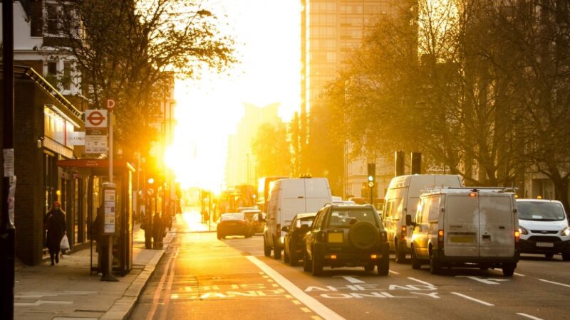
[[[299,1],[205,0],[217,16],[219,31],[236,42],[237,65],[223,74],[175,85],[177,126],[165,160],[182,188],[224,187],[227,137],[235,133],[245,102],[281,103],[289,121],[300,104]],[[229,24],[229,28],[225,28]]]

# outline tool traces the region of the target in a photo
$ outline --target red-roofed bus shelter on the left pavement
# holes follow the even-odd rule
[[[88,221],[90,239],[97,239],[93,234],[93,221],[98,208],[103,206],[103,183],[109,182],[108,159],[70,159],[58,161],[64,171],[81,176],[87,183],[86,206],[80,208]],[[113,234],[113,272],[124,276],[133,269],[133,172],[135,169],[127,161],[113,161],[113,183],[116,185],[116,218]],[[90,244],[90,272],[97,273],[100,259],[98,252]]]

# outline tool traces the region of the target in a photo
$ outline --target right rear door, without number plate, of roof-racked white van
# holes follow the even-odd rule
[[[514,255],[514,213],[512,196],[480,193],[480,256]]]

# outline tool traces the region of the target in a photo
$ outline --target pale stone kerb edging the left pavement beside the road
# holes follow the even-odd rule
[[[155,255],[150,259],[150,261],[145,265],[140,274],[135,278],[135,280],[130,284],[130,286],[123,293],[123,297],[115,300],[113,306],[110,307],[108,311],[103,314],[99,319],[105,320],[126,320],[135,309],[135,305],[138,302],[138,298],[142,290],[145,289],[148,283],[148,279],[152,277],[155,273],[156,266],[164,256],[168,246],[176,238],[176,234],[168,240],[165,245],[162,246],[162,250],[157,250]]]

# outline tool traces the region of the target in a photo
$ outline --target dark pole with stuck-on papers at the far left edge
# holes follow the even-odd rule
[[[2,202],[0,210],[0,319],[14,319],[14,1],[2,1],[4,110],[2,122]]]

